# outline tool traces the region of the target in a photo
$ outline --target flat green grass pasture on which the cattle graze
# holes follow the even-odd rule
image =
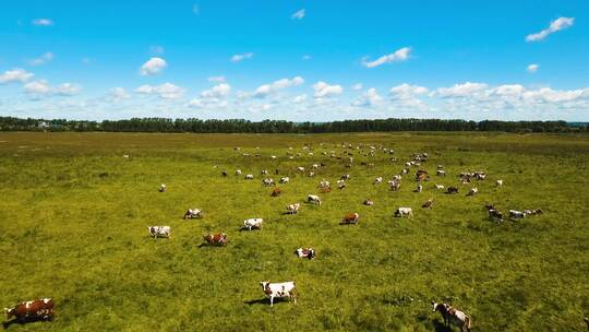
[[[395,154],[349,150],[354,163],[346,168],[322,154],[347,156],[341,143]],[[301,156],[289,159],[289,146]],[[430,155],[419,168],[435,174],[442,164],[448,176],[432,176],[417,193],[413,167],[390,191],[386,180],[417,152]],[[314,163],[326,164],[316,177],[296,173]],[[446,331],[432,312],[436,300],[469,313],[473,331],[587,331],[587,135],[0,133],[0,306],[56,303],[52,322],[4,328]],[[237,168],[255,179],[235,176]],[[279,198],[261,185],[262,169],[278,181],[275,168],[291,178],[278,185]],[[478,195],[466,197],[471,185],[458,182],[466,170],[489,174],[472,185]],[[335,187],[342,174],[351,175],[346,189],[318,193],[322,178]],[[385,183],[373,186],[377,176]],[[283,214],[310,193],[323,204]],[[375,204],[362,205],[365,198]],[[434,209],[422,209],[429,198]],[[496,224],[483,206],[491,202],[504,214],[544,213]],[[414,217],[393,217],[399,206]],[[188,208],[204,218],[182,220]],[[338,225],[349,212],[360,223]],[[264,228],[241,232],[250,217],[264,218]],[[172,237],[154,240],[152,225],[171,226]],[[229,245],[201,247],[208,232],[226,233]],[[299,247],[315,248],[317,258],[297,258]],[[268,280],[294,281],[298,304],[271,308],[259,284]]]

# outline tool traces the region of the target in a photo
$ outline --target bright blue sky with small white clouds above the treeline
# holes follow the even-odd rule
[[[0,115],[589,120],[589,1],[10,1]]]

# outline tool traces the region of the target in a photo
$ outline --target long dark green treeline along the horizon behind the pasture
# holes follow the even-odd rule
[[[441,119],[378,119],[333,122],[290,122],[243,119],[201,120],[133,118],[128,120],[79,121],[0,117],[0,131],[107,131],[107,132],[201,132],[201,133],[323,133],[370,131],[505,131],[589,132],[587,123],[565,121],[465,121]]]

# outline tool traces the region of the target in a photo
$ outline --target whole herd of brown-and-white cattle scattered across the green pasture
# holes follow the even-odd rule
[[[385,153],[385,154],[394,154],[395,153],[393,150],[389,150],[389,149],[386,149],[386,147],[383,147],[383,146],[373,146],[373,145],[364,145],[364,144],[358,145],[358,146],[352,146],[351,144],[342,144],[339,147],[341,147],[346,152],[345,157],[344,156],[338,156],[335,151],[329,151],[329,152],[324,151],[323,154],[328,155],[329,157],[337,158],[337,159],[344,159],[345,163],[346,163],[345,164],[346,167],[352,167],[352,165],[353,165],[353,156],[352,156],[353,153],[349,152],[350,150],[352,150],[354,153],[363,154],[364,156],[374,156],[380,151],[382,151],[382,153]],[[240,149],[236,149],[236,150],[239,151]],[[302,147],[302,150],[308,151],[309,156],[313,156],[313,153],[314,153],[314,152],[312,152],[313,149],[308,147],[305,145],[305,146]],[[289,151],[287,151],[287,156],[289,157],[289,159],[293,159],[293,155],[294,155],[294,153],[292,152],[292,147],[289,147]],[[301,153],[298,153],[298,155],[301,155]],[[243,154],[243,156],[250,156],[250,154]],[[274,155],[271,156],[271,157],[273,159],[277,158]],[[411,168],[413,167],[413,168],[417,168],[417,170],[414,173],[414,178],[412,179],[412,182],[417,183],[416,189],[413,191],[414,192],[422,192],[424,190],[423,189],[424,185],[428,181],[432,180],[432,177],[430,176],[430,174],[426,170],[421,168],[421,165],[426,163],[428,159],[429,159],[428,153],[416,153],[416,154],[413,154],[411,159],[408,161],[405,164],[405,167],[402,167],[400,173],[394,175],[390,178],[390,180],[387,181],[387,183],[390,186],[390,190],[392,191],[399,191],[400,188],[401,188],[401,181],[404,180],[404,178],[407,178],[407,177],[410,178],[411,177],[409,174],[411,173]],[[390,161],[396,162],[397,158],[392,157]],[[361,165],[366,166],[366,167],[374,166],[373,163],[361,163]],[[320,169],[325,167],[325,166],[326,165],[323,164],[323,163],[321,163],[321,164],[312,164],[311,165],[312,170],[310,170],[310,171],[306,171],[305,167],[303,167],[303,166],[298,166],[296,168],[294,173],[300,174],[300,175],[304,175],[304,176],[308,176],[308,177],[314,177],[320,171]],[[278,187],[276,187],[276,183],[275,183],[274,179],[268,177],[268,170],[263,169],[261,171],[261,174],[264,176],[264,178],[262,179],[262,185],[267,186],[267,187],[274,187],[271,195],[272,197],[280,195],[281,190]],[[280,171],[278,169],[276,169],[275,174],[279,175]],[[228,175],[229,174],[228,174],[227,170],[221,171],[223,177],[227,177]],[[243,176],[241,169],[236,169],[235,175],[236,176]],[[437,165],[436,166],[435,176],[436,177],[445,177],[446,176],[446,170],[445,170],[443,165]],[[462,183],[462,185],[469,185],[469,183],[472,185],[474,181],[485,180],[486,177],[488,177],[488,175],[484,171],[473,171],[473,173],[464,171],[464,173],[460,173],[458,175],[458,185],[457,186],[449,186],[448,188],[445,188],[443,185],[434,183],[432,186],[432,188],[434,190],[440,190],[440,191],[443,191],[445,189],[445,193],[447,193],[447,194],[457,194],[459,192],[460,183]],[[253,174],[245,174],[243,176],[243,178],[245,180],[252,180],[252,179],[254,179],[254,175]],[[340,189],[340,190],[345,189],[346,185],[347,185],[346,181],[349,180],[349,179],[350,179],[349,174],[345,174],[345,175],[340,176],[336,180],[337,188]],[[284,176],[284,177],[279,178],[278,182],[281,183],[281,185],[286,185],[286,183],[290,183],[290,180],[291,180],[290,177]],[[383,183],[383,181],[384,181],[383,177],[378,176],[372,181],[372,185],[377,186],[377,185]],[[496,188],[500,188],[503,185],[504,185],[504,181],[502,179],[495,180],[495,187]],[[330,182],[328,180],[326,180],[326,179],[322,179],[321,181],[318,181],[317,189],[318,189],[320,193],[326,194],[326,193],[332,191]],[[164,185],[164,183],[160,185],[158,191],[163,192],[163,193],[166,192],[167,191],[166,185]],[[479,193],[479,189],[477,187],[469,186],[469,189],[468,189],[466,195],[476,195],[478,193]],[[321,199],[321,197],[318,194],[308,194],[304,202],[306,202],[309,204],[321,205],[322,204],[322,199]],[[364,199],[363,204],[368,205],[368,206],[371,206],[371,205],[374,204],[374,202],[372,201],[372,199],[366,198],[366,199]],[[432,209],[433,205],[434,205],[434,199],[430,198],[421,206],[424,208],[424,209]],[[290,214],[290,215],[294,215],[294,214],[297,214],[299,212],[300,208],[301,208],[300,202],[288,204],[288,205],[286,205],[285,213]],[[500,210],[497,210],[494,204],[485,204],[485,208],[488,210],[490,220],[496,221],[496,222],[501,222],[501,221],[504,220],[503,213]],[[517,220],[524,218],[524,217],[526,217],[528,215],[536,215],[536,214],[541,214],[542,213],[541,210],[522,210],[522,211],[509,210],[508,212],[509,212],[508,216],[509,216],[509,218],[512,221],[517,221]],[[395,217],[412,218],[413,217],[413,209],[410,208],[410,206],[399,206],[398,209],[396,209],[394,211],[393,215]],[[184,220],[187,220],[187,218],[190,218],[190,220],[192,220],[192,218],[202,218],[202,217],[204,217],[203,211],[200,210],[200,209],[195,209],[195,208],[188,209],[185,211],[184,215],[183,215]],[[351,212],[351,213],[346,214],[342,217],[340,224],[341,225],[356,225],[356,224],[358,224],[359,220],[360,220],[360,214],[358,212]],[[243,221],[243,228],[248,229],[248,230],[262,229],[263,223],[264,223],[264,220],[261,218],[261,217],[248,218],[248,220]],[[170,238],[171,237],[171,227],[170,226],[149,226],[149,227],[147,227],[147,229],[148,229],[149,235],[152,237],[154,237],[155,239],[157,239],[157,238]],[[228,244],[227,235],[225,233],[206,234],[206,235],[203,236],[203,239],[204,239],[204,244],[206,244],[206,245],[226,246]],[[306,259],[314,259],[316,257],[315,249],[313,249],[313,248],[298,248],[298,249],[294,250],[294,254],[297,254],[299,258],[306,258]],[[296,289],[296,284],[292,281],[283,282],[283,283],[271,283],[271,282],[266,281],[266,282],[261,282],[261,286],[262,286],[262,290],[264,292],[264,295],[267,298],[269,298],[271,307],[274,305],[274,299],[275,298],[292,298],[294,304],[297,303],[297,289]],[[432,304],[433,304],[433,311],[438,311],[442,315],[444,323],[446,325],[454,324],[454,325],[459,327],[462,331],[464,330],[466,330],[466,331],[470,330],[471,318],[467,313],[465,313],[465,312],[462,312],[462,311],[460,311],[460,310],[458,310],[456,308],[453,308],[448,304],[436,304],[436,303],[432,303]],[[24,303],[21,303],[21,304],[16,305],[16,306],[12,307],[12,308],[5,308],[4,310],[5,310],[7,316],[8,316],[9,319],[14,317],[19,321],[51,320],[52,317],[53,317],[53,301],[51,299],[49,299],[49,298],[37,299],[37,300],[32,300],[32,301],[24,301]],[[586,319],[586,321],[587,321],[587,319]],[[587,322],[588,322],[588,327],[589,327],[589,321],[587,321]]]

